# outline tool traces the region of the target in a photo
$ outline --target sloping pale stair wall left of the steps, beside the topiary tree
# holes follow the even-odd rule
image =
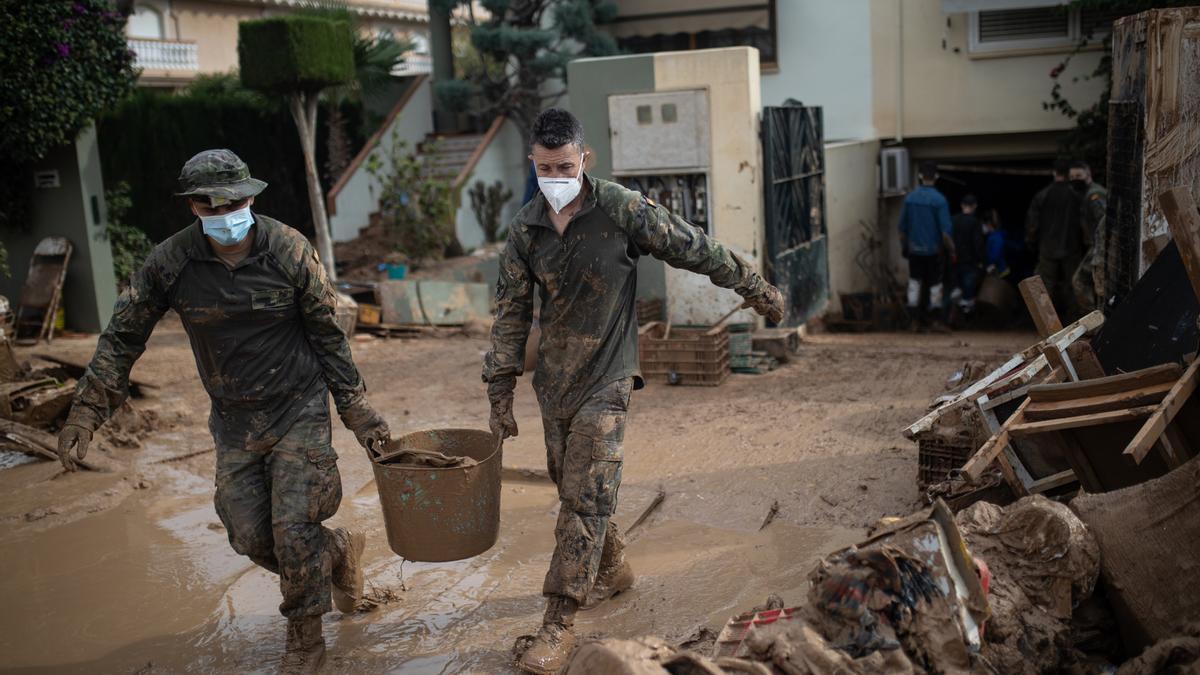
[[[330,190],[336,195],[328,199],[329,227],[334,241],[349,241],[367,226],[371,214],[379,208],[379,181],[367,171],[367,155],[379,151],[386,155],[397,141],[415,150],[418,143],[433,133],[433,85],[427,77],[414,84],[413,96],[401,100],[390,124],[385,124],[354,159],[347,175],[338,181],[341,187]]]

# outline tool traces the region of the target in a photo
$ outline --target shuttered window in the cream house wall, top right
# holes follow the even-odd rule
[[[970,12],[972,53],[1073,48],[1112,32],[1121,12],[1058,7],[1022,7]]]

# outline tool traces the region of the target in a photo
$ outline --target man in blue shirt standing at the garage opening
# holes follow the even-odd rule
[[[950,237],[950,205],[934,187],[937,165],[922,162],[920,186],[908,193],[900,210],[900,250],[908,258],[908,313],[913,327],[932,322],[935,330],[946,330],[942,321],[942,246],[955,259]]]

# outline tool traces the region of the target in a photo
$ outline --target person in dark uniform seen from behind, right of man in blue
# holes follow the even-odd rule
[[[1084,258],[1084,237],[1079,226],[1080,196],[1067,183],[1070,165],[1054,165],[1054,183],[1033,196],[1025,216],[1025,241],[1038,252],[1037,274],[1063,322],[1078,316],[1072,277]]]

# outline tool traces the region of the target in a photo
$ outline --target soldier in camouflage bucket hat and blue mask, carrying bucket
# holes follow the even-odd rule
[[[362,532],[320,525],[342,497],[329,393],[365,447],[385,442],[388,424],[367,404],[314,250],[295,229],[250,211],[266,184],[229,150],[196,155],[179,180],[199,219],[156,246],[118,299],[59,456],[68,470],[72,449],[84,458],[92,431],[125,401],[155,324],[175,310],[212,401],[217,515],[235,551],[280,575],[282,670],[316,671],[330,585],[338,609],[353,611],[365,545]]]

